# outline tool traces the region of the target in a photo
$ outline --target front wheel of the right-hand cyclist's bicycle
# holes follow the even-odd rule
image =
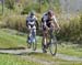
[[[57,53],[57,40],[55,36],[50,39],[49,51],[51,55],[56,55]]]

